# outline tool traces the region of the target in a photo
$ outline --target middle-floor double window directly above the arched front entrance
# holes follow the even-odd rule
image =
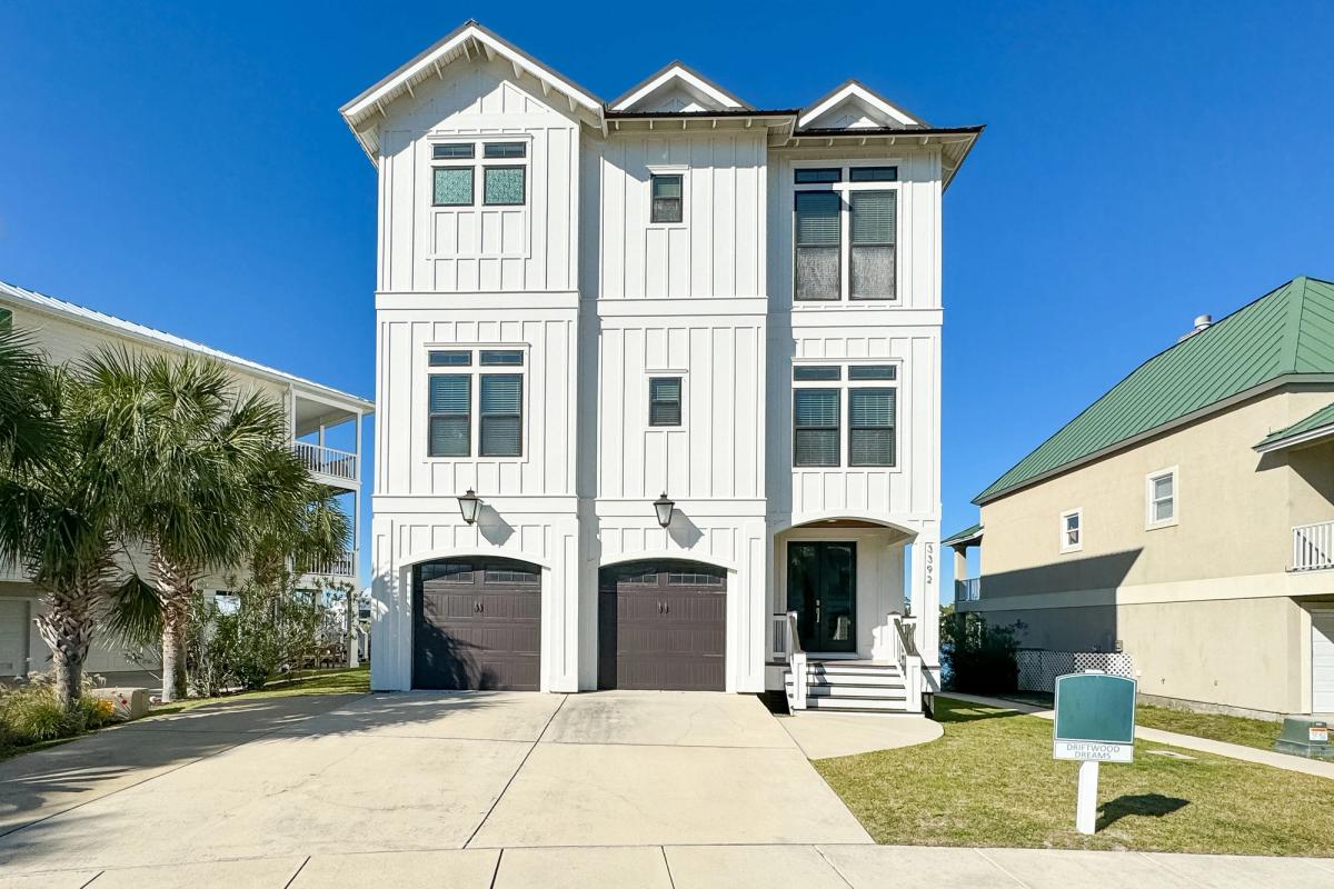
[[[898,466],[898,365],[792,367],[794,466]]]

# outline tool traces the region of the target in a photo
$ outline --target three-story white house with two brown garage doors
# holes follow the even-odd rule
[[[918,712],[982,128],[680,63],[606,103],[474,21],[342,113],[379,177],[372,685]]]

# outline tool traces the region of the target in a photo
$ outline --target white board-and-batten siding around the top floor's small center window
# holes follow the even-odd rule
[[[590,139],[586,297],[763,296],[766,152],[763,128]],[[654,172],[684,176],[679,224],[650,223]]]

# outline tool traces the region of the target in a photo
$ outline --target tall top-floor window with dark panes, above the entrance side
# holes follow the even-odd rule
[[[896,296],[895,167],[794,171],[794,299]]]

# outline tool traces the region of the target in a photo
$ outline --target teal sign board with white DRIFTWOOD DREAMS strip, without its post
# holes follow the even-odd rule
[[[1126,761],[1135,742],[1135,680],[1107,673],[1057,677],[1055,754]]]

